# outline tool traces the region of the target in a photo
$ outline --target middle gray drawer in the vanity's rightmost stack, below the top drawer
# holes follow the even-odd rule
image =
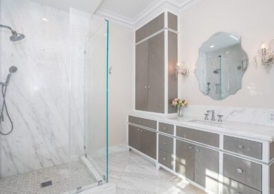
[[[262,165],[223,154],[223,176],[262,191]]]

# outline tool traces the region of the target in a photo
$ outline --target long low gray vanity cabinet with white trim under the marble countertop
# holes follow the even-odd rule
[[[158,168],[216,194],[274,194],[274,143],[240,137],[162,117],[129,116],[130,148]]]

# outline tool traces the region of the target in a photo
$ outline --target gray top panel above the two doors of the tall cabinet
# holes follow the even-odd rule
[[[140,27],[140,29],[136,30],[135,42],[140,42],[140,40],[151,36],[153,33],[160,31],[161,29],[164,29],[164,13],[160,14],[146,25]]]

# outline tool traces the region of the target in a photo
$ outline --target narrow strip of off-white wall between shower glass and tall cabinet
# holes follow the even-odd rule
[[[110,20],[109,144],[127,142],[127,114],[134,110],[134,31]]]

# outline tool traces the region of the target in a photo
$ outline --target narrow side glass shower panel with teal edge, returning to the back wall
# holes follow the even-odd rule
[[[86,42],[85,143],[88,161],[108,181],[108,20],[93,18]]]

